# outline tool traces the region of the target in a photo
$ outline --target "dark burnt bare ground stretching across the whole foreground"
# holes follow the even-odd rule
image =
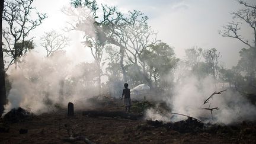
[[[96,99],[92,101],[97,102]],[[148,102],[133,104],[132,113],[141,113],[143,108],[153,105]],[[94,110],[123,111],[124,107],[119,100],[99,100]],[[76,110],[75,116],[68,117],[62,109],[39,116],[30,115],[15,123],[1,119],[0,143],[69,143],[63,139],[70,135],[85,136],[94,143],[256,143],[255,122],[244,121],[232,126],[215,124],[180,132],[159,121],[89,117],[83,116],[82,111]],[[181,121],[181,126],[183,123]]]

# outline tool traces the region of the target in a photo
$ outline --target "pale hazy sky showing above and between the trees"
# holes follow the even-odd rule
[[[48,17],[36,30],[39,37],[43,31],[61,30],[66,26],[66,17],[60,9],[68,5],[69,0],[36,0],[37,10],[46,12]],[[158,39],[174,47],[177,57],[184,57],[184,49],[199,46],[203,49],[215,47],[222,55],[222,62],[231,68],[239,59],[239,50],[246,47],[235,39],[222,37],[218,31],[222,25],[232,21],[230,12],[242,8],[235,0],[100,0],[108,5],[116,5],[120,11],[127,12],[133,9],[142,11],[149,17],[149,24],[153,30],[158,31]],[[256,4],[254,0],[247,0]],[[49,5],[50,4],[50,5]],[[247,25],[246,25],[247,26]],[[241,31],[244,37],[252,37],[252,31],[244,27]],[[77,60],[92,60],[89,49],[82,46],[81,33],[69,33],[73,41],[67,51],[68,55],[75,56]],[[39,46],[39,44],[37,44]],[[81,52],[77,53],[77,50]],[[38,50],[44,52],[43,50]]]

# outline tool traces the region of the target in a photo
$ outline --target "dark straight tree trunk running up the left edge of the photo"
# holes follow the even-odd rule
[[[4,0],[1,1],[0,5],[0,117],[2,116],[2,113],[4,112],[4,105],[6,103],[6,91],[5,91],[5,69],[4,69],[4,54],[2,51],[2,12],[4,9]]]

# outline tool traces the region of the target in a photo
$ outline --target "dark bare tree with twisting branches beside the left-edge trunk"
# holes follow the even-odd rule
[[[15,63],[15,68],[18,57],[28,50],[28,47],[25,47],[25,41],[33,39],[33,37],[28,39],[28,34],[46,18],[46,14],[36,12],[37,19],[34,19],[32,14],[36,8],[32,7],[32,4],[33,0],[4,2],[3,20],[8,24],[8,27],[3,30],[3,37],[7,43],[5,53],[11,57],[9,65]],[[20,43],[19,47],[18,43]]]

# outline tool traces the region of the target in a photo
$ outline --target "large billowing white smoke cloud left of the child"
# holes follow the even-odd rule
[[[93,67],[94,63],[90,66]],[[54,111],[57,105],[66,105],[68,102],[85,101],[95,95],[94,83],[82,85],[77,79],[81,75],[87,79],[94,79],[95,75],[87,75],[82,71],[84,67],[75,65],[65,52],[55,52],[50,57],[40,57],[39,53],[29,52],[18,64],[18,68],[9,73],[12,81],[8,95],[8,105],[5,113],[12,108],[22,107],[31,112],[40,114]],[[63,95],[60,94],[63,82]],[[87,92],[91,88],[92,92]]]

